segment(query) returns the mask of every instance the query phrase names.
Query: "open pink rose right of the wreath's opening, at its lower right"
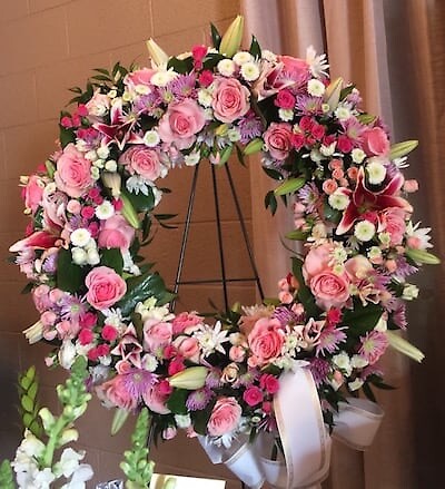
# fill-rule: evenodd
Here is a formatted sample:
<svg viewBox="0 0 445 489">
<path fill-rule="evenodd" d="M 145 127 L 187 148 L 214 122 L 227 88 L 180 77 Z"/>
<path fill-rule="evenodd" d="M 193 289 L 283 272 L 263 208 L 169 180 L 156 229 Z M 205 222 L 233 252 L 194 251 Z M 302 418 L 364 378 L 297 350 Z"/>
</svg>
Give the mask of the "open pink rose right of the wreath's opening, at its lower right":
<svg viewBox="0 0 445 489">
<path fill-rule="evenodd" d="M 343 307 L 349 299 L 349 281 L 346 274 L 337 275 L 326 270 L 313 276 L 309 286 L 318 307 L 325 311 Z"/>
</svg>

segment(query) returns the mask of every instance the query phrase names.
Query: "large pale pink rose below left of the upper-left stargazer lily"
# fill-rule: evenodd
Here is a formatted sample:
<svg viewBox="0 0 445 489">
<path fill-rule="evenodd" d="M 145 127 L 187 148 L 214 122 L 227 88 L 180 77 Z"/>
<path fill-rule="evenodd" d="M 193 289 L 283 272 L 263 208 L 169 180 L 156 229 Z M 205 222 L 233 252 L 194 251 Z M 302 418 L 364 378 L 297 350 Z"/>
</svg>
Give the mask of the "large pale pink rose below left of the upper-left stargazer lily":
<svg viewBox="0 0 445 489">
<path fill-rule="evenodd" d="M 83 196 L 93 185 L 91 162 L 70 143 L 57 160 L 56 185 L 70 197 Z"/>
</svg>

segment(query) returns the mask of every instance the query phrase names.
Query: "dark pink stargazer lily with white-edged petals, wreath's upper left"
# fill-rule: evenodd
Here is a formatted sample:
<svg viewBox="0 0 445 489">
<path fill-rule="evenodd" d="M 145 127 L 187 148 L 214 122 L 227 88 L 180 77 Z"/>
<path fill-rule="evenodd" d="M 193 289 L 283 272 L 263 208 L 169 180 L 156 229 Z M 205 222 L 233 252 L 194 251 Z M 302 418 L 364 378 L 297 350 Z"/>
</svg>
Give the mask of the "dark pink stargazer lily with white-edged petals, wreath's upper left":
<svg viewBox="0 0 445 489">
<path fill-rule="evenodd" d="M 95 129 L 105 135 L 102 145 L 108 146 L 116 143 L 120 150 L 123 146 L 129 144 L 140 144 L 142 139 L 136 134 L 131 133 L 135 126 L 136 118 L 128 117 L 122 111 L 122 100 L 119 99 L 110 110 L 110 124 L 96 123 L 92 125 Z"/>
</svg>

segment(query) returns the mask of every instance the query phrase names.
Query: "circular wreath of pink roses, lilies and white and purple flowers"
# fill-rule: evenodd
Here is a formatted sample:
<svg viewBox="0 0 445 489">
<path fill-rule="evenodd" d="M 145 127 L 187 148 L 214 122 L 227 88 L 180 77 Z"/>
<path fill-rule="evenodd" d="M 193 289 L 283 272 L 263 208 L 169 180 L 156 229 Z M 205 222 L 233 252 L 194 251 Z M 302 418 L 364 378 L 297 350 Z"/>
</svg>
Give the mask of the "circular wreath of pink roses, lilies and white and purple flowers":
<svg viewBox="0 0 445 489">
<path fill-rule="evenodd" d="M 27 338 L 56 345 L 48 364 L 88 359 L 101 400 L 147 407 L 162 439 L 186 428 L 228 444 L 275 430 L 271 400 L 296 361 L 332 423 L 345 391 L 373 398 L 385 387 L 377 361 L 388 345 L 422 359 L 393 333 L 418 293 L 408 276 L 437 263 L 405 198 L 417 189 L 402 173 L 416 141 L 390 145 L 358 90 L 329 80 L 324 55 L 277 56 L 255 38 L 239 50 L 239 32 L 236 22 L 222 39 L 212 29 L 214 48 L 178 57 L 149 41 L 151 68 L 98 69 L 86 91 L 72 89 L 59 149 L 22 179 L 31 221 L 10 251 L 40 313 Z M 278 180 L 273 212 L 291 196 L 288 237 L 305 253 L 276 302 L 209 324 L 169 311 L 171 294 L 139 252 L 161 178 L 202 159 L 224 165 L 234 150 L 259 151 Z"/>
</svg>

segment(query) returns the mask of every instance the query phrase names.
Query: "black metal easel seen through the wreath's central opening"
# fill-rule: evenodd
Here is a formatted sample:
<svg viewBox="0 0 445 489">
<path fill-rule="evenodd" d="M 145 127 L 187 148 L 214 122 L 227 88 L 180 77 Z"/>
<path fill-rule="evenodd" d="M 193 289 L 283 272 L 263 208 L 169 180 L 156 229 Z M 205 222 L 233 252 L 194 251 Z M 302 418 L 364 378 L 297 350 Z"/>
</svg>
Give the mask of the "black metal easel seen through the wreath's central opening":
<svg viewBox="0 0 445 489">
<path fill-rule="evenodd" d="M 216 277 L 216 278 L 201 278 L 201 280 L 194 280 L 194 281 L 187 281 L 187 280 L 184 281 L 184 280 L 181 280 L 182 268 L 184 268 L 184 261 L 185 261 L 187 242 L 188 242 L 188 236 L 189 236 L 189 231 L 190 231 L 191 214 L 192 214 L 194 204 L 195 204 L 196 188 L 197 188 L 197 183 L 198 183 L 198 174 L 199 174 L 200 165 L 201 164 L 196 165 L 194 177 L 192 177 L 192 180 L 191 180 L 191 189 L 190 189 L 190 196 L 189 196 L 189 199 L 188 199 L 186 224 L 185 224 L 185 227 L 184 227 L 182 242 L 181 242 L 180 253 L 179 253 L 178 270 L 177 270 L 177 273 L 176 273 L 176 280 L 175 280 L 175 285 L 174 285 L 174 293 L 175 293 L 175 295 L 178 293 L 180 285 L 221 284 L 222 285 L 222 293 L 224 293 L 224 306 L 225 306 L 226 311 L 228 311 L 228 309 L 229 309 L 228 291 L 227 291 L 227 284 L 228 283 L 233 283 L 233 282 L 255 282 L 256 285 L 257 285 L 258 293 L 259 293 L 261 300 L 264 299 L 264 292 L 263 292 L 261 282 L 259 280 L 258 270 L 257 270 L 257 266 L 255 264 L 254 253 L 253 253 L 253 250 L 251 250 L 251 246 L 250 246 L 250 242 L 249 242 L 249 237 L 248 237 L 248 234 L 247 234 L 246 223 L 245 223 L 245 219 L 244 219 L 244 216 L 243 216 L 241 207 L 239 205 L 239 199 L 238 199 L 238 196 L 237 196 L 237 193 L 236 193 L 234 179 L 233 179 L 233 176 L 231 176 L 228 163 L 225 165 L 225 170 L 226 170 L 227 179 L 228 179 L 228 183 L 229 183 L 231 196 L 234 198 L 235 208 L 236 208 L 236 212 L 237 212 L 239 225 L 241 227 L 241 233 L 243 233 L 244 242 L 245 242 L 246 250 L 247 250 L 247 253 L 248 253 L 248 256 L 249 256 L 250 267 L 253 270 L 253 275 L 254 276 L 251 276 L 251 277 L 230 277 L 230 278 L 227 277 L 227 273 L 226 273 L 226 257 L 225 257 L 225 254 L 224 254 L 224 244 L 222 244 L 222 232 L 221 232 L 221 221 L 220 221 L 220 203 L 219 203 L 219 195 L 218 195 L 218 185 L 217 185 L 217 178 L 216 178 L 216 169 L 215 169 L 215 166 L 211 165 L 211 182 L 212 182 L 212 188 L 214 188 L 215 215 L 216 215 L 216 225 L 217 225 L 217 234 L 218 234 L 218 252 L 219 252 L 219 263 L 220 263 L 220 277 Z M 171 303 L 170 303 L 170 311 L 171 312 L 175 311 L 175 306 L 176 306 L 176 300 L 174 299 L 171 301 Z"/>
</svg>

